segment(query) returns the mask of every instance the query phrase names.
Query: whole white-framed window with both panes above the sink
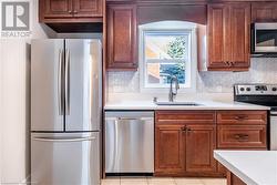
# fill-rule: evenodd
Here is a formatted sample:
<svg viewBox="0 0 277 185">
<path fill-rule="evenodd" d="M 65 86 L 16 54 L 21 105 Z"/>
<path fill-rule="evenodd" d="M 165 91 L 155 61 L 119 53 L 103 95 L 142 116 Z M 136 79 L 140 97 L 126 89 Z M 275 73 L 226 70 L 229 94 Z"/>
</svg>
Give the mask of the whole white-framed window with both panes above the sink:
<svg viewBox="0 0 277 185">
<path fill-rule="evenodd" d="M 178 79 L 183 91 L 194 89 L 195 27 L 192 23 L 187 27 L 184 22 L 165 21 L 142 25 L 140 33 L 141 90 L 161 89 L 167 92 L 172 75 Z"/>
</svg>

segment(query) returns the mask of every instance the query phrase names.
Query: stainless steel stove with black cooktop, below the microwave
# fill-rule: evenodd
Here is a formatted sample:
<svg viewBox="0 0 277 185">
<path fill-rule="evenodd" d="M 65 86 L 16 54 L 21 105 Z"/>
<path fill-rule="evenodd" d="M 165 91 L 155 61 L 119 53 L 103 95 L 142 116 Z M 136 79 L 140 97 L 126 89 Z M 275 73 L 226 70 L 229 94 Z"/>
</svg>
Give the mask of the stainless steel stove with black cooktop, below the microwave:
<svg viewBox="0 0 277 185">
<path fill-rule="evenodd" d="M 234 100 L 270 106 L 269 148 L 277 151 L 277 84 L 236 84 Z"/>
</svg>

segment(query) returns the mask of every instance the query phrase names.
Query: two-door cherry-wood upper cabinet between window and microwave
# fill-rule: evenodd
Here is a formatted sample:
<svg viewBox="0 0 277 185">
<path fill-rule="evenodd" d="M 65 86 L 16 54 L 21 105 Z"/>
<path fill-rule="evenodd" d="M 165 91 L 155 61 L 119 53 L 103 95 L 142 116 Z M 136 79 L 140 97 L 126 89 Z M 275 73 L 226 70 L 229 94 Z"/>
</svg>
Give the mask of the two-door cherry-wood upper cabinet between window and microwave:
<svg viewBox="0 0 277 185">
<path fill-rule="evenodd" d="M 249 68 L 250 3 L 208 4 L 208 70 Z"/>
</svg>

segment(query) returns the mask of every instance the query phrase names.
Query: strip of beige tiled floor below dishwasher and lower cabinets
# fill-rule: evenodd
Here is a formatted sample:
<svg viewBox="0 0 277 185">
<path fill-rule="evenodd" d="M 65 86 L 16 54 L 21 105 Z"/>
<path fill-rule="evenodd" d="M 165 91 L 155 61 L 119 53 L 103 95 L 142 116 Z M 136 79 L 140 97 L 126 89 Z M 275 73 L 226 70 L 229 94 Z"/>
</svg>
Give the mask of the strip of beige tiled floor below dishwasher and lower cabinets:
<svg viewBox="0 0 277 185">
<path fill-rule="evenodd" d="M 102 179 L 102 185 L 226 185 L 225 178 L 121 177 Z"/>
</svg>

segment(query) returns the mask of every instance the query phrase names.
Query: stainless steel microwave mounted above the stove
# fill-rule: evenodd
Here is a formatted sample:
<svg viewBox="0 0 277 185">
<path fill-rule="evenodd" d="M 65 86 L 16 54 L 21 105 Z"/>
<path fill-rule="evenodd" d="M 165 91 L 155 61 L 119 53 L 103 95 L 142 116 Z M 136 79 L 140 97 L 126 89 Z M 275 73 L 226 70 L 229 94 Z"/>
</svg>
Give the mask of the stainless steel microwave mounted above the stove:
<svg viewBox="0 0 277 185">
<path fill-rule="evenodd" d="M 252 54 L 277 54 L 277 22 L 252 24 Z"/>
</svg>

